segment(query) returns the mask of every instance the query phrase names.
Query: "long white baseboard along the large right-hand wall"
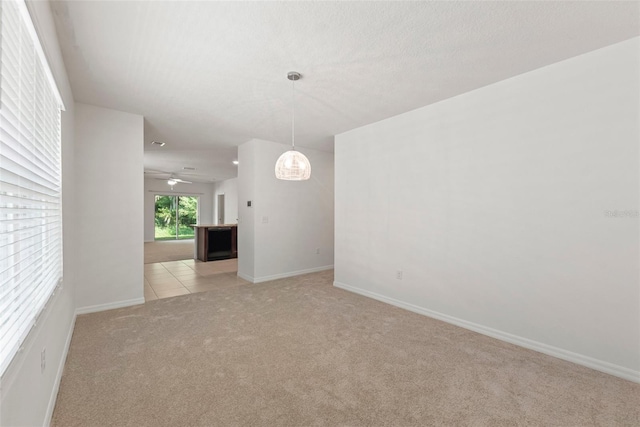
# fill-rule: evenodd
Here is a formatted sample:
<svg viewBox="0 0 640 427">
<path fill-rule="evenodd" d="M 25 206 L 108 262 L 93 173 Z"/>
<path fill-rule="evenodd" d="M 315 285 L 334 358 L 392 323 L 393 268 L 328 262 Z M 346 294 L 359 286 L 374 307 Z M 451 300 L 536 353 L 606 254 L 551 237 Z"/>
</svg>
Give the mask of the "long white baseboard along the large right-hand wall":
<svg viewBox="0 0 640 427">
<path fill-rule="evenodd" d="M 558 359 L 566 360 L 568 362 L 575 363 L 577 365 L 586 366 L 587 368 L 595 369 L 596 371 L 604 372 L 606 374 L 614 375 L 625 380 L 640 383 L 640 371 L 634 371 L 633 369 L 625 368 L 623 366 L 614 365 L 613 363 L 605 362 L 603 360 L 594 359 L 589 356 L 585 356 L 579 353 L 574 353 L 568 350 L 564 350 L 559 347 L 547 345 L 538 341 L 533 341 L 528 338 L 519 337 L 517 335 L 509 334 L 507 332 L 499 331 L 497 329 L 489 328 L 487 326 L 479 325 L 477 323 L 469 322 L 457 317 L 449 316 L 437 311 L 429 310 L 417 305 L 413 305 L 404 301 L 399 301 L 394 298 L 389 298 L 384 295 L 370 292 L 364 289 L 356 288 L 345 283 L 338 281 L 333 282 L 333 286 L 344 289 L 356 294 L 360 294 L 369 298 L 373 298 L 378 301 L 385 302 L 387 304 L 394 305 L 396 307 L 403 308 L 405 310 L 412 311 L 414 313 L 422 314 L 427 317 L 442 320 L 443 322 L 450 323 L 452 325 L 460 326 L 461 328 L 469 329 L 474 332 L 478 332 L 483 335 L 490 336 L 492 338 L 506 341 L 511 344 L 518 345 L 520 347 L 535 350 L 540 353 L 547 354 L 549 356 L 557 357 Z"/>
</svg>

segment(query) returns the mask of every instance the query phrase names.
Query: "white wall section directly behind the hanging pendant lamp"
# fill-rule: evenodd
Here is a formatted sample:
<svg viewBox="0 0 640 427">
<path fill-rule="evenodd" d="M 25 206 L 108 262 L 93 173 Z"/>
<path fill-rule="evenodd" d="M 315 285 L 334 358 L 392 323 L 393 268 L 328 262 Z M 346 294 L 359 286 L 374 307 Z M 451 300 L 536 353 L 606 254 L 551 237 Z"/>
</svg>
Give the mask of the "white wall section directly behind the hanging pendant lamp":
<svg viewBox="0 0 640 427">
<path fill-rule="evenodd" d="M 276 160 L 288 149 L 262 140 L 238 149 L 238 275 L 254 283 L 333 267 L 333 153 L 300 149 L 311 179 L 278 180 Z"/>
</svg>

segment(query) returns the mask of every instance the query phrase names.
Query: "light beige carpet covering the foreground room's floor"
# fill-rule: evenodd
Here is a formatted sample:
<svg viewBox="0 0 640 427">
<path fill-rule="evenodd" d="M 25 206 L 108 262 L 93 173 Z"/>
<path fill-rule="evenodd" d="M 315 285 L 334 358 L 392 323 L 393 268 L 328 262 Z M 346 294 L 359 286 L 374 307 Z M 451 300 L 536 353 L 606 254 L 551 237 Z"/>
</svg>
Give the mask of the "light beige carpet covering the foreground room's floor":
<svg viewBox="0 0 640 427">
<path fill-rule="evenodd" d="M 640 425 L 638 384 L 331 283 L 78 316 L 53 425 Z"/>
</svg>

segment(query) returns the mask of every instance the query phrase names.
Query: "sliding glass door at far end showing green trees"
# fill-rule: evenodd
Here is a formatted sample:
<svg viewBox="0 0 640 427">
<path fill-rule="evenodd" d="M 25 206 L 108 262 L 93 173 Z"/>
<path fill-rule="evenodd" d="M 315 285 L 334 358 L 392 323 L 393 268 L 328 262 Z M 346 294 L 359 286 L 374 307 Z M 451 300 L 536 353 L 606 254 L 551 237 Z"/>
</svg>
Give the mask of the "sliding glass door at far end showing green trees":
<svg viewBox="0 0 640 427">
<path fill-rule="evenodd" d="M 198 197 L 156 195 L 155 240 L 193 239 L 198 223 Z"/>
</svg>

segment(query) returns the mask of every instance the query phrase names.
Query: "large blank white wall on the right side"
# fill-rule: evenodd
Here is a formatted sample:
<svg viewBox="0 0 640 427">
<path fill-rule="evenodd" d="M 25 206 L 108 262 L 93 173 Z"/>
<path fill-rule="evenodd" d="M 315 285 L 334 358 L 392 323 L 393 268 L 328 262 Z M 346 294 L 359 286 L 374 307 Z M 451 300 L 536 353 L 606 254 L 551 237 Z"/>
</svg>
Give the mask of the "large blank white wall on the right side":
<svg viewBox="0 0 640 427">
<path fill-rule="evenodd" d="M 338 135 L 336 286 L 639 381 L 638 52 Z"/>
</svg>

